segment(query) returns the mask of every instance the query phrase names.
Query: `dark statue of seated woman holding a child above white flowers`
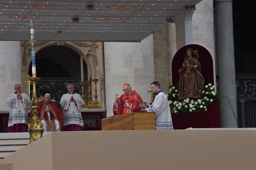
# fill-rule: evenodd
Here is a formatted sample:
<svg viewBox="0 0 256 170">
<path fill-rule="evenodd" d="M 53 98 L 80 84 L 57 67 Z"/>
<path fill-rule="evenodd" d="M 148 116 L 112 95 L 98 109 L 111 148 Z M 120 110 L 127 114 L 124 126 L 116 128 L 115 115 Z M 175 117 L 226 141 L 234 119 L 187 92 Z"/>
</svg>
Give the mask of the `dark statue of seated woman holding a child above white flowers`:
<svg viewBox="0 0 256 170">
<path fill-rule="evenodd" d="M 201 64 L 198 61 L 198 51 L 188 48 L 182 67 L 178 69 L 180 74 L 178 86 L 178 99 L 201 98 L 204 89 L 204 78 Z"/>
</svg>

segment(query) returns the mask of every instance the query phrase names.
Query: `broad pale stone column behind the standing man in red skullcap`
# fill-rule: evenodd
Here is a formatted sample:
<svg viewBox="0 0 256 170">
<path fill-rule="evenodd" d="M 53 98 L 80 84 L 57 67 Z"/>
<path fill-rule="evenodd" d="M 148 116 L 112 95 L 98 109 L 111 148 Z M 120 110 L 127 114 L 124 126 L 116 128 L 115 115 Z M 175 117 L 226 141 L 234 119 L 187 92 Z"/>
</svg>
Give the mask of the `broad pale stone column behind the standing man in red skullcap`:
<svg viewBox="0 0 256 170">
<path fill-rule="evenodd" d="M 116 93 L 129 83 L 145 102 L 151 101 L 150 83 L 154 81 L 153 35 L 141 43 L 104 42 L 107 117 L 112 116 Z"/>
</svg>

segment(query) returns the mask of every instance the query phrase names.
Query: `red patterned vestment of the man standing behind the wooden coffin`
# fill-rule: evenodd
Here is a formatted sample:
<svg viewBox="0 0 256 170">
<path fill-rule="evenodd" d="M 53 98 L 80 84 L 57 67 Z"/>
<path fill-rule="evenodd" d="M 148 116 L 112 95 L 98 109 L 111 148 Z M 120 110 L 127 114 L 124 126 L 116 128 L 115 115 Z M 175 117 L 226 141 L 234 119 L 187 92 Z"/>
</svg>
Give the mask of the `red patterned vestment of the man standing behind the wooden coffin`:
<svg viewBox="0 0 256 170">
<path fill-rule="evenodd" d="M 128 102 L 128 107 L 123 107 L 125 102 Z M 115 103 L 113 106 L 113 113 L 114 115 L 123 115 L 130 112 L 140 112 L 140 104 L 143 103 L 141 96 L 135 92 L 131 91 L 130 95 L 122 94 L 117 103 L 116 111 L 115 110 Z"/>
</svg>

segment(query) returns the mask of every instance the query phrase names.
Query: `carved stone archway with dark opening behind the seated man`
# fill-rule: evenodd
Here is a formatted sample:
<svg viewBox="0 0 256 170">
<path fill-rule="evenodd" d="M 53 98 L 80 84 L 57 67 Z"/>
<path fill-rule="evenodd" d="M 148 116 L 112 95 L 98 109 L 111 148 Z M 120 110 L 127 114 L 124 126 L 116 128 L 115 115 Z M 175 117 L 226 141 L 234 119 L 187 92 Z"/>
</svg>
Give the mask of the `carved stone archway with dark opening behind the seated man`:
<svg viewBox="0 0 256 170">
<path fill-rule="evenodd" d="M 78 93 L 79 81 L 81 81 L 80 57 L 83 58 L 84 80 L 99 79 L 97 84 L 98 101 L 105 107 L 104 101 L 104 64 L 101 42 L 56 42 L 37 41 L 36 48 L 36 68 L 37 76 L 52 79 L 76 79 Z M 22 58 L 22 78 L 27 79 L 31 74 L 31 52 L 29 42 L 21 42 Z M 86 55 L 89 54 L 88 57 Z M 48 64 L 50 62 L 51 64 Z M 53 69 L 57 68 L 57 69 Z M 59 69 L 58 69 L 59 68 Z M 40 70 L 39 70 L 40 69 Z M 51 73 L 54 74 L 51 75 Z M 23 82 L 25 92 L 28 92 L 28 85 Z M 95 93 L 95 86 L 92 85 L 92 100 Z M 23 90 L 24 90 L 23 89 Z M 85 88 L 85 91 L 87 89 Z M 37 94 L 38 95 L 38 94 Z M 85 94 L 86 95 L 86 94 Z"/>
</svg>

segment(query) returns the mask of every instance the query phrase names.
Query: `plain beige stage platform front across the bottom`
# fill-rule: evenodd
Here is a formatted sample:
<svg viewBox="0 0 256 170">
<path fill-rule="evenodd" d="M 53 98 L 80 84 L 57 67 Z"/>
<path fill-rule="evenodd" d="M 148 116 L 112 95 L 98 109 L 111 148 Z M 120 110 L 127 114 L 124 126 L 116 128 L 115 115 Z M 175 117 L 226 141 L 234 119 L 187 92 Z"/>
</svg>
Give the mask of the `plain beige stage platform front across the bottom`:
<svg viewBox="0 0 256 170">
<path fill-rule="evenodd" d="M 255 129 L 50 132 L 0 160 L 8 170 L 252 170 Z"/>
</svg>

